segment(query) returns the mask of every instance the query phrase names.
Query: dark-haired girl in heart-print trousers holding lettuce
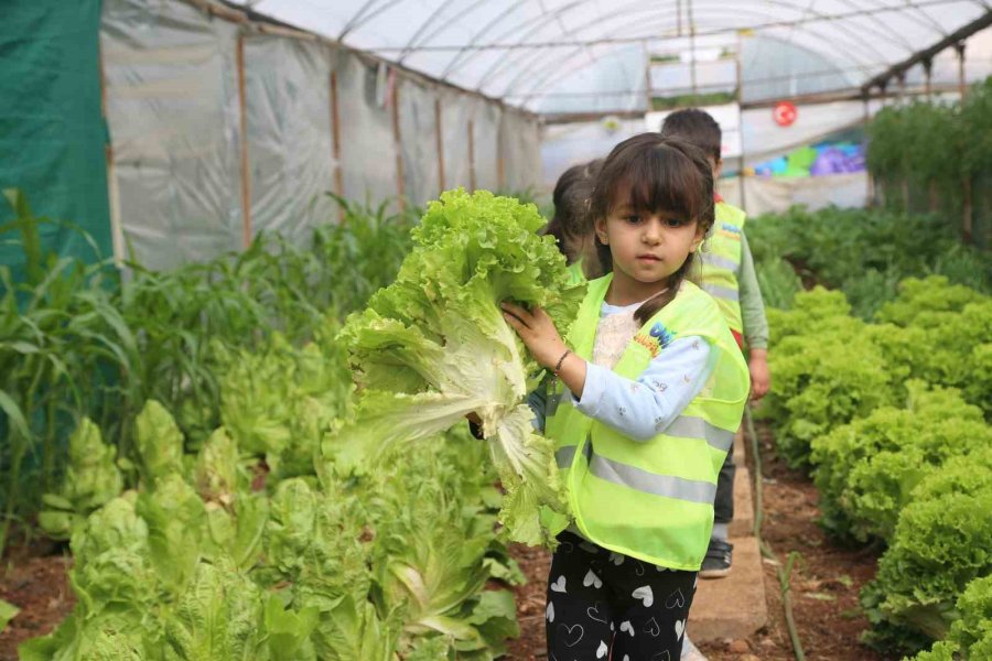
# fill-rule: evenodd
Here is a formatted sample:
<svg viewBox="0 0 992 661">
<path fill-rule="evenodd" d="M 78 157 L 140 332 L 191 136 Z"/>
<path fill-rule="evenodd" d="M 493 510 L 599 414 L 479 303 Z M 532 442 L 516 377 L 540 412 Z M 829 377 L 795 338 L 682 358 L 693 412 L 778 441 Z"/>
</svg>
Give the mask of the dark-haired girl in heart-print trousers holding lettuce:
<svg viewBox="0 0 992 661">
<path fill-rule="evenodd" d="M 548 581 L 548 658 L 677 661 L 748 389 L 716 304 L 687 280 L 713 224 L 712 173 L 687 143 L 636 136 L 606 159 L 591 209 L 610 272 L 568 343 L 539 307 L 503 305 L 559 379 L 544 433 L 574 524 Z"/>
</svg>

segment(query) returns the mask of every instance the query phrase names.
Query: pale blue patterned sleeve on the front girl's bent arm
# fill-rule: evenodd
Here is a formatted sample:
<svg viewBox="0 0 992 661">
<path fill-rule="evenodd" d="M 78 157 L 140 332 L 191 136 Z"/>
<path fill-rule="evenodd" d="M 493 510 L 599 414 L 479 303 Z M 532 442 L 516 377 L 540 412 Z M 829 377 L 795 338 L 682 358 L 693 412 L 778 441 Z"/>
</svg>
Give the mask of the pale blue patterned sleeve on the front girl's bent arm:
<svg viewBox="0 0 992 661">
<path fill-rule="evenodd" d="M 649 441 L 702 391 L 714 355 L 705 339 L 689 336 L 665 347 L 636 380 L 589 364 L 585 389 L 572 404 L 625 436 Z"/>
</svg>

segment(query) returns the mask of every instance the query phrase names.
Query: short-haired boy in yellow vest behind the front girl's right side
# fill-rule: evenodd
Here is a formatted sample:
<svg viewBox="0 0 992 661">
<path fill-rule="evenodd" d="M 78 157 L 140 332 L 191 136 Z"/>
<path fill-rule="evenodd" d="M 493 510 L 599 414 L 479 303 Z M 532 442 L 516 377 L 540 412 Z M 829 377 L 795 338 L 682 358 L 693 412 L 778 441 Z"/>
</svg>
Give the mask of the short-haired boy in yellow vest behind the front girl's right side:
<svg viewBox="0 0 992 661">
<path fill-rule="evenodd" d="M 705 153 L 713 180 L 720 177 L 722 160 L 720 124 L 708 112 L 697 108 L 677 110 L 661 126 L 666 138 L 684 140 Z M 741 350 L 748 351 L 752 398 L 759 400 L 768 392 L 768 322 L 765 304 L 754 271 L 754 259 L 744 236 L 744 212 L 714 195 L 716 223 L 707 249 L 700 253 L 702 289 L 720 305 Z M 733 544 L 727 541 L 727 527 L 734 517 L 734 455 L 729 453 L 716 487 L 713 539 L 707 551 L 700 576 L 722 578 L 730 573 Z"/>
</svg>

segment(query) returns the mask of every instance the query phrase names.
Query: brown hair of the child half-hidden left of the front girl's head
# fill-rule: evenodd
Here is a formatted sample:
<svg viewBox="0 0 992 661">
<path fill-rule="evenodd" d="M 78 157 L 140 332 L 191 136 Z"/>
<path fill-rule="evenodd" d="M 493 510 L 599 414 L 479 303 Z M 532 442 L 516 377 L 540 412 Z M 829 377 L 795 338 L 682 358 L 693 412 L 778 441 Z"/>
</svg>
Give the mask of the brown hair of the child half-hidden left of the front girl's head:
<svg viewBox="0 0 992 661">
<path fill-rule="evenodd" d="M 558 241 L 569 263 L 579 254 L 575 245 L 593 235 L 593 223 L 589 214 L 593 186 L 596 175 L 603 167 L 603 159 L 596 159 L 581 165 L 572 165 L 558 177 L 551 201 L 554 203 L 554 217 L 544 228 Z"/>
</svg>

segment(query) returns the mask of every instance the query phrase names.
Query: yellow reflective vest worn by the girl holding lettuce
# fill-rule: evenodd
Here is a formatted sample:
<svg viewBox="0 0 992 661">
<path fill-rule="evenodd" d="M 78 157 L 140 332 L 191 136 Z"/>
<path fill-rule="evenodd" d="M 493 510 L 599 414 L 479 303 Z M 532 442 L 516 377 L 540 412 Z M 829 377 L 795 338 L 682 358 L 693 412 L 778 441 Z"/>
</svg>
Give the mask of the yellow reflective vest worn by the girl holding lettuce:
<svg viewBox="0 0 992 661">
<path fill-rule="evenodd" d="M 589 283 L 568 335 L 585 360 L 612 280 L 610 273 Z M 548 398 L 546 433 L 556 442 L 569 506 L 586 539 L 651 564 L 697 571 L 713 528 L 716 476 L 744 412 L 747 365 L 713 299 L 686 281 L 634 336 L 614 371 L 636 379 L 673 338 L 690 336 L 710 344 L 715 367 L 700 394 L 657 436 L 638 442 L 594 421 L 571 404 L 560 381 Z"/>
</svg>

